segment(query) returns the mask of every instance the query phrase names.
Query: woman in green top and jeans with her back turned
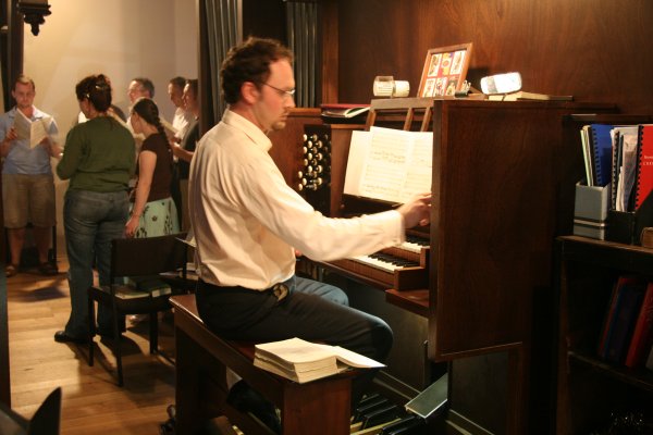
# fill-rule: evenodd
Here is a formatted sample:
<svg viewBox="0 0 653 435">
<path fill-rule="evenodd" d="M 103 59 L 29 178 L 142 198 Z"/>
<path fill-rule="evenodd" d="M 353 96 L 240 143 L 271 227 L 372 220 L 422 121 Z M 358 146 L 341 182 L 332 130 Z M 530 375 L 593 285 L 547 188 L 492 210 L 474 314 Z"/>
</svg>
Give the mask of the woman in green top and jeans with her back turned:
<svg viewBox="0 0 653 435">
<path fill-rule="evenodd" d="M 70 179 L 63 206 L 63 223 L 70 270 L 71 316 L 57 341 L 86 341 L 86 293 L 93 285 L 94 262 L 100 285 L 108 285 L 111 240 L 124 237 L 130 216 L 128 182 L 134 174 L 136 146 L 127 128 L 107 111 L 111 85 L 102 74 L 84 78 L 75 87 L 79 109 L 88 119 L 67 134 L 57 166 L 61 179 Z M 100 306 L 98 326 L 111 335 L 111 310 Z"/>
</svg>

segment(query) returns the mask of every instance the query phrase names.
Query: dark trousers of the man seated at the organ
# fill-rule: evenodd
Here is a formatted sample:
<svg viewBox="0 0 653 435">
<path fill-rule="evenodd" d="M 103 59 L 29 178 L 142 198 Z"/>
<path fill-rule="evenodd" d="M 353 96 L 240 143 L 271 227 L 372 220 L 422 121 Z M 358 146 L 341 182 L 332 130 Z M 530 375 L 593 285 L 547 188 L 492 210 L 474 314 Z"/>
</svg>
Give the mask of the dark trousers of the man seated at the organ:
<svg viewBox="0 0 653 435">
<path fill-rule="evenodd" d="M 297 276 L 286 285 L 287 296 L 278 300 L 272 290 L 217 287 L 199 281 L 199 316 L 209 330 L 226 339 L 266 343 L 299 337 L 385 361 L 393 341 L 387 323 L 348 307 L 346 295 L 337 287 Z M 352 408 L 377 372 L 362 370 L 352 382 Z"/>
</svg>

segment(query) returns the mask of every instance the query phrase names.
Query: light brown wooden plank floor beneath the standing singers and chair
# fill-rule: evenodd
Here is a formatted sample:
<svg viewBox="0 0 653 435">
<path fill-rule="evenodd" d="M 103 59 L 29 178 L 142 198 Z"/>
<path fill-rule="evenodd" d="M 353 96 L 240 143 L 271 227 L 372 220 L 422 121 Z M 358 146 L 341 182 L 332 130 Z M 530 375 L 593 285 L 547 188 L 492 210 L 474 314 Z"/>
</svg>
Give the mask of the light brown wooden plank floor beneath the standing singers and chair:
<svg viewBox="0 0 653 435">
<path fill-rule="evenodd" d="M 147 324 L 127 324 L 123 388 L 115 384 L 115 360 L 104 343 L 96 340 L 99 352 L 93 368 L 86 346 L 56 343 L 53 334 L 70 314 L 63 252 L 58 265 L 58 276 L 26 271 L 7 279 L 12 408 L 30 418 L 60 386 L 62 435 L 158 434 L 159 423 L 168 420 L 167 407 L 174 402 L 174 366 L 149 355 Z M 171 321 L 160 325 L 160 348 L 173 355 Z"/>
</svg>

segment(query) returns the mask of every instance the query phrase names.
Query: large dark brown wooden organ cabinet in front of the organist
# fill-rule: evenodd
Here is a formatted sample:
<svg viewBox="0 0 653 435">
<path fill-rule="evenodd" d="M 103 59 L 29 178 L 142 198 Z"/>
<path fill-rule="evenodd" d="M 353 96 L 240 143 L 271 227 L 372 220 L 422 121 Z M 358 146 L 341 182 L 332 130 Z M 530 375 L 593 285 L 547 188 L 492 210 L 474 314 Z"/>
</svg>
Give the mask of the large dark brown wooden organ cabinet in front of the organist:
<svg viewBox="0 0 653 435">
<path fill-rule="evenodd" d="M 583 170 L 563 119 L 614 111 L 609 104 L 406 98 L 373 100 L 367 126 L 317 127 L 330 132 L 331 166 L 330 179 L 311 195 L 323 191 L 319 209 L 332 216 L 387 208 L 343 195 L 352 129 L 433 130 L 431 225 L 415 234 L 427 240 L 428 253 L 417 259 L 426 262 L 424 278 L 387 279 L 348 260 L 317 266 L 368 287 L 348 291 L 354 307 L 383 319 L 403 313 L 386 319 L 395 346 L 385 372 L 398 378 L 385 383 L 390 389 L 407 384 L 419 393 L 445 365 L 447 433 L 552 432 L 553 244 L 571 233 L 574 186 Z M 291 186 L 303 171 L 303 136 L 319 124 L 317 110 L 297 110 L 286 130 L 272 136 L 273 158 Z M 381 303 L 367 303 L 368 297 Z M 422 377 L 416 381 L 415 372 Z"/>
</svg>

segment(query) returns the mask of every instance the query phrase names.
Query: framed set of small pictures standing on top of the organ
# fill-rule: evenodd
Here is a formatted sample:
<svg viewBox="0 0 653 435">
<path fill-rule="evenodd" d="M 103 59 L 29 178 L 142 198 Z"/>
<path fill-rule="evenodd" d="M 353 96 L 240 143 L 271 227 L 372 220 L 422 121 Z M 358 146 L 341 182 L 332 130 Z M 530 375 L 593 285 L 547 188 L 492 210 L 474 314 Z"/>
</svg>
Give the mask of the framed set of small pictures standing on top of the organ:
<svg viewBox="0 0 653 435">
<path fill-rule="evenodd" d="M 432 48 L 427 53 L 418 97 L 453 96 L 467 75 L 471 42 Z"/>
</svg>

